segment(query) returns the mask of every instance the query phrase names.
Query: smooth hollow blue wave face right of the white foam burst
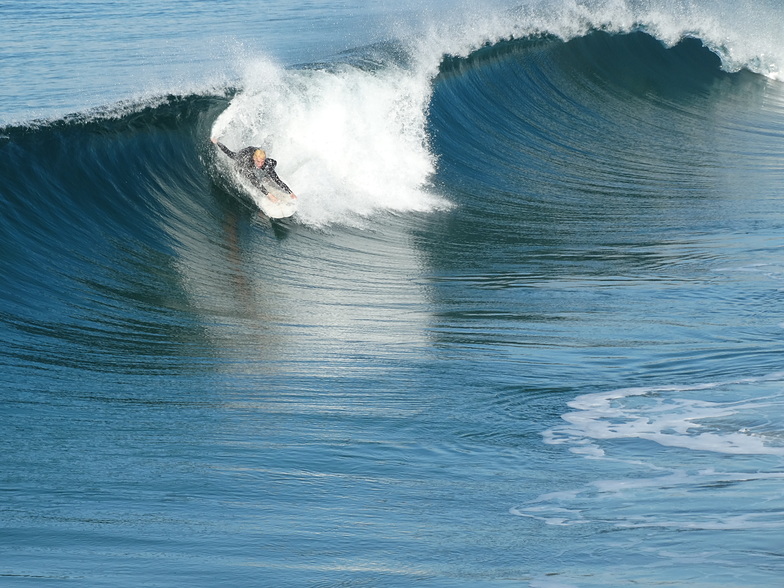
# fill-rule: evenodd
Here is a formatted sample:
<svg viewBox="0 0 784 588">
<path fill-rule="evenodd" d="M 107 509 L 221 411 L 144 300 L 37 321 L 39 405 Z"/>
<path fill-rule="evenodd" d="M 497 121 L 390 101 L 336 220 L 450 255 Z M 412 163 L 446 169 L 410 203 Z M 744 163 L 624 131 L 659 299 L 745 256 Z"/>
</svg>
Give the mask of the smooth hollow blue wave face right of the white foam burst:
<svg viewBox="0 0 784 588">
<path fill-rule="evenodd" d="M 714 166 L 775 165 L 776 136 L 755 137 L 758 159 L 745 162 L 734 152 L 742 133 L 717 136 L 770 88 L 724 72 L 697 39 L 671 48 L 642 32 L 503 41 L 441 67 L 431 104 L 439 178 L 493 191 L 493 206 L 681 188 L 689 197 L 709 189 Z M 763 124 L 777 126 L 775 117 Z M 720 140 L 738 145 L 717 149 Z"/>
</svg>

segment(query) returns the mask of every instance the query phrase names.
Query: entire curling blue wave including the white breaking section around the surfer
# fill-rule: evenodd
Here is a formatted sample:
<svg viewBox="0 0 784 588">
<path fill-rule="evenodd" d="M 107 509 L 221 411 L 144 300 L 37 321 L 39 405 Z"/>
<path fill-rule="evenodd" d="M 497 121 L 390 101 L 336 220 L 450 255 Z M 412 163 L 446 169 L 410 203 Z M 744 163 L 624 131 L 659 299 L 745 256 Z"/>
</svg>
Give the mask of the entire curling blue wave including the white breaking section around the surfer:
<svg viewBox="0 0 784 588">
<path fill-rule="evenodd" d="M 301 224 L 456 205 L 467 242 L 544 218 L 552 231 L 543 239 L 572 239 L 558 235 L 559 219 L 590 226 L 598 209 L 585 203 L 597 197 L 607 202 L 602 215 L 622 216 L 629 196 L 669 194 L 655 204 L 666 223 L 680 200 L 709 197 L 730 170 L 780 173 L 781 84 L 727 72 L 704 40 L 536 34 L 464 55 L 441 45 L 435 69 L 418 47 L 380 44 L 289 69 L 255 63 L 244 86 L 223 96 L 169 96 L 2 129 L 2 312 L 18 328 L 39 325 L 31 338 L 17 332 L 29 352 L 19 357 L 36 355 L 38 336 L 73 343 L 68 329 L 45 326 L 50 314 L 56 323 L 65 307 L 82 308 L 90 323 L 97 299 L 106 309 L 125 296 L 118 280 L 183 287 L 172 263 L 179 248 L 220 242 L 227 211 L 250 208 L 221 181 L 210 135 L 265 145 L 300 196 Z M 478 219 L 481 235 L 471 229 Z M 140 267 L 140 258 L 159 265 Z M 210 280 L 221 279 L 216 267 Z M 130 303 L 156 324 L 154 305 Z M 188 332 L 189 320 L 175 330 Z M 147 355 L 155 336 L 127 326 L 135 335 L 118 352 L 137 341 Z M 83 347 L 103 337 L 69 329 L 87 338 Z M 107 333 L 116 329 L 107 323 Z"/>
</svg>

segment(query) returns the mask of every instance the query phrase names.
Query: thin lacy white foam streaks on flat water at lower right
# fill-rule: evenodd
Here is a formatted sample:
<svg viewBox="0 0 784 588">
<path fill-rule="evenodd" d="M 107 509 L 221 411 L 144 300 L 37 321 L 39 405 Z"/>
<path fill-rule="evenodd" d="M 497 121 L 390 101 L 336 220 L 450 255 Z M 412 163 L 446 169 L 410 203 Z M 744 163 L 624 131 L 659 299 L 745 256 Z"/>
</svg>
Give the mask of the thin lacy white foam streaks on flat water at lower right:
<svg viewBox="0 0 784 588">
<path fill-rule="evenodd" d="M 780 530 L 783 383 L 784 374 L 773 373 L 580 396 L 563 415 L 568 424 L 544 437 L 592 459 L 578 479 L 593 481 L 510 513 L 554 526 Z M 757 496 L 765 498 L 749 498 Z"/>
</svg>

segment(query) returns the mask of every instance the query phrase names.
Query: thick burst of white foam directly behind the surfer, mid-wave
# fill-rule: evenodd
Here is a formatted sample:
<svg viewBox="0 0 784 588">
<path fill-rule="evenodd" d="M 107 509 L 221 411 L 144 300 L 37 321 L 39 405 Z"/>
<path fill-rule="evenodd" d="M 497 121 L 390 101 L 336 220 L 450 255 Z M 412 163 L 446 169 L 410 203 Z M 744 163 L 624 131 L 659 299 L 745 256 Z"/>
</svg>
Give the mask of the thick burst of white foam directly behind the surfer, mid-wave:
<svg viewBox="0 0 784 588">
<path fill-rule="evenodd" d="M 244 91 L 216 120 L 230 148 L 263 146 L 300 196 L 303 222 L 447 206 L 429 187 L 429 80 L 399 68 L 283 69 L 248 64 Z"/>
</svg>

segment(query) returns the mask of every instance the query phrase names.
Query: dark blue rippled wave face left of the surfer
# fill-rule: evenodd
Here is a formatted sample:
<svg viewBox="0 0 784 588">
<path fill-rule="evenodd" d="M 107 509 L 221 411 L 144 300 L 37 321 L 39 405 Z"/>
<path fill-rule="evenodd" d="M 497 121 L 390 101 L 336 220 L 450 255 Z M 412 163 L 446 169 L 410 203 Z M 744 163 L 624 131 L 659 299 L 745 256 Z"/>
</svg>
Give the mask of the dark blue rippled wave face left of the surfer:
<svg viewBox="0 0 784 588">
<path fill-rule="evenodd" d="M 202 145 L 225 100 L 158 102 L 4 129 L 4 362 L 154 371 L 187 347 L 159 305 L 178 244 L 223 214 Z"/>
</svg>

